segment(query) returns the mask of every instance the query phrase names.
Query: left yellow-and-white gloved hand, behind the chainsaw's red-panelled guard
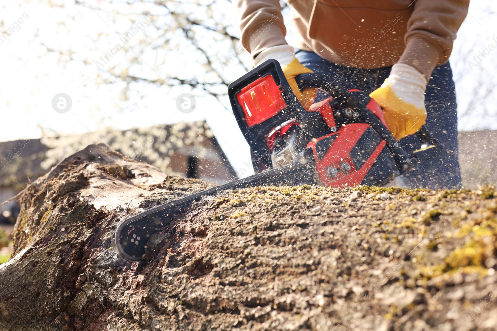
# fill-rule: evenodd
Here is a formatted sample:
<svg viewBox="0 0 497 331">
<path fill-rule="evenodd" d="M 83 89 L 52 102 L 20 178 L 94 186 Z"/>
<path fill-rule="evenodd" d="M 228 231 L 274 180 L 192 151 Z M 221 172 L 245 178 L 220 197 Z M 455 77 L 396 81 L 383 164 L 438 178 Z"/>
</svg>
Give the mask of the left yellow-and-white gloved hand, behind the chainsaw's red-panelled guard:
<svg viewBox="0 0 497 331">
<path fill-rule="evenodd" d="M 295 76 L 301 73 L 311 73 L 314 71 L 300 64 L 299 60 L 295 57 L 293 47 L 289 45 L 266 48 L 255 57 L 253 65 L 258 66 L 269 59 L 274 59 L 279 62 L 293 93 L 295 93 L 295 96 L 302 104 L 302 107 L 306 110 L 309 109 L 316 97 L 317 89 L 306 88 L 304 91 L 300 91 L 297 82 L 295 81 Z"/>
</svg>

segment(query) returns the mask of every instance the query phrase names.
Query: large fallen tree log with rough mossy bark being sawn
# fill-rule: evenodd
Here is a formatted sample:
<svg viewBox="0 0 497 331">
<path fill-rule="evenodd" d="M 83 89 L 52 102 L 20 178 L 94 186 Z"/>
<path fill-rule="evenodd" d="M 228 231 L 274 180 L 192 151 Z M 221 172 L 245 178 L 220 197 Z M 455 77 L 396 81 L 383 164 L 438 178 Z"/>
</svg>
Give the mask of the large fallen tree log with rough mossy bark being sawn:
<svg viewBox="0 0 497 331">
<path fill-rule="evenodd" d="M 14 254 L 0 265 L 0 330 L 497 324 L 492 188 L 222 192 L 152 236 L 144 264 L 117 256 L 119 222 L 210 185 L 105 144 L 66 158 L 20 198 Z"/>
</svg>

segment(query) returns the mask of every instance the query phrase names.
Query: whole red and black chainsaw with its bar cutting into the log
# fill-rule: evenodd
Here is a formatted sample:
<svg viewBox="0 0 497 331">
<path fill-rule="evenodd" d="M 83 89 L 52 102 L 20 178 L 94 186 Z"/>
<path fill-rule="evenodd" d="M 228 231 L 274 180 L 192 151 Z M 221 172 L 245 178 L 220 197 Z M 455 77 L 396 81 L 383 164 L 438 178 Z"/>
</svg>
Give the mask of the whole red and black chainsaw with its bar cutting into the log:
<svg viewBox="0 0 497 331">
<path fill-rule="evenodd" d="M 279 63 L 268 60 L 228 86 L 233 113 L 248 145 L 255 175 L 233 180 L 147 209 L 121 222 L 119 255 L 141 262 L 151 235 L 162 233 L 192 202 L 229 189 L 268 185 L 382 186 L 417 169 L 444 146 L 423 126 L 420 148 L 404 150 L 388 129 L 381 107 L 358 89 L 334 86 L 322 75 L 296 77 L 299 88 L 327 98 L 305 110 Z"/>
</svg>

